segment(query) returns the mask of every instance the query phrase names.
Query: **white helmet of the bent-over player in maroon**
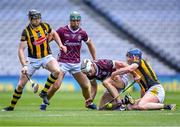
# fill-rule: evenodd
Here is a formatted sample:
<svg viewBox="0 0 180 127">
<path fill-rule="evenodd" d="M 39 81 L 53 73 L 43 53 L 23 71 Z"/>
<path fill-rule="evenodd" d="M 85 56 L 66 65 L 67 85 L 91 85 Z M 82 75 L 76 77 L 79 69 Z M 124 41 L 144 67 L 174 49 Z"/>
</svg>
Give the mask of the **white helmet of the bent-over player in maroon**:
<svg viewBox="0 0 180 127">
<path fill-rule="evenodd" d="M 84 59 L 81 63 L 81 71 L 84 73 L 89 73 L 89 71 L 92 69 L 92 61 L 90 59 Z"/>
</svg>

